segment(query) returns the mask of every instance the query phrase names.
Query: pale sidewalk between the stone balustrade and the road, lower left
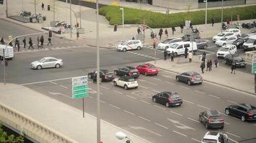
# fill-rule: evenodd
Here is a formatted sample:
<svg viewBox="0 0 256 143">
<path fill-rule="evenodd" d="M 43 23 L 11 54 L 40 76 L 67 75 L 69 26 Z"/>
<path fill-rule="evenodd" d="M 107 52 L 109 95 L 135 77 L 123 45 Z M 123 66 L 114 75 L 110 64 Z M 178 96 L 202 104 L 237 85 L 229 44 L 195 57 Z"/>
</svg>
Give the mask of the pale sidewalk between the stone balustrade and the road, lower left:
<svg viewBox="0 0 256 143">
<path fill-rule="evenodd" d="M 27 114 L 27 117 L 35 119 L 47 127 L 51 127 L 53 130 L 74 139 L 76 142 L 96 142 L 96 117 L 85 114 L 83 118 L 81 110 L 70 107 L 68 104 L 63 104 L 27 87 L 17 84 L 0 84 L 0 101 L 2 104 L 6 104 L 25 115 Z M 101 120 L 102 142 L 125 142 L 115 137 L 116 132 L 124 132 L 133 142 L 149 143 L 145 139 Z"/>
</svg>

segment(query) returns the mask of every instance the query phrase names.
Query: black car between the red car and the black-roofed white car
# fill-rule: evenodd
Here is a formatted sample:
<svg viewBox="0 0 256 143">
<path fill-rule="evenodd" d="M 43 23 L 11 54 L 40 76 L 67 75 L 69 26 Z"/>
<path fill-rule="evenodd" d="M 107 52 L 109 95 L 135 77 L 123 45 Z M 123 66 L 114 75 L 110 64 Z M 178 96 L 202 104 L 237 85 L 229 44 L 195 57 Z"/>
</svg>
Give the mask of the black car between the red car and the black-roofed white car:
<svg viewBox="0 0 256 143">
<path fill-rule="evenodd" d="M 139 71 L 137 69 L 135 69 L 133 66 L 123 66 L 118 69 L 115 69 L 114 74 L 119 77 L 126 75 L 129 77 L 137 78 L 140 76 Z"/>
</svg>

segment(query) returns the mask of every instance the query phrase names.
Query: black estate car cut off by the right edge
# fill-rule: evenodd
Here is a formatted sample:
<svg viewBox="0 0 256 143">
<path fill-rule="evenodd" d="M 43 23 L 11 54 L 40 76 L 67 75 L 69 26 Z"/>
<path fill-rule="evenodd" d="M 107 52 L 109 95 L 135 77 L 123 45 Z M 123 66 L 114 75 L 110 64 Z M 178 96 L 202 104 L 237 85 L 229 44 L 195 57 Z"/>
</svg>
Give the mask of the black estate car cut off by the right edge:
<svg viewBox="0 0 256 143">
<path fill-rule="evenodd" d="M 235 104 L 229 105 L 225 109 L 226 114 L 239 117 L 242 122 L 244 121 L 256 121 L 256 107 L 251 104 Z"/>
</svg>

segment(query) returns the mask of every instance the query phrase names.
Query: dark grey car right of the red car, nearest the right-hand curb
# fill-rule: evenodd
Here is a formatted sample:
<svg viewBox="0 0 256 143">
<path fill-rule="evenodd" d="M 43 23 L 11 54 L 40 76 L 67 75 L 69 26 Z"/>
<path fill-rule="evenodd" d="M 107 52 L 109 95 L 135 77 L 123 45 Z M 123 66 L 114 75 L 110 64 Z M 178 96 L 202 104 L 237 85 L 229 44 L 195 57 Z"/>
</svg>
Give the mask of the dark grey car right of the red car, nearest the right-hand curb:
<svg viewBox="0 0 256 143">
<path fill-rule="evenodd" d="M 196 71 L 186 71 L 176 76 L 176 81 L 185 82 L 188 85 L 192 84 L 202 84 L 203 77 L 198 74 Z"/>
</svg>

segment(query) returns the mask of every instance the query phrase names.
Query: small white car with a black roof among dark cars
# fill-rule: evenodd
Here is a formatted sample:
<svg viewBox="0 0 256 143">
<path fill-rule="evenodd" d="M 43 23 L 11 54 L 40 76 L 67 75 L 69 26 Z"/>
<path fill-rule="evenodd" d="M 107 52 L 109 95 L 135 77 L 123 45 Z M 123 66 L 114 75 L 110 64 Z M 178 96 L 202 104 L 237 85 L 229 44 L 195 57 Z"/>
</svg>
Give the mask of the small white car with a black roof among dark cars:
<svg viewBox="0 0 256 143">
<path fill-rule="evenodd" d="M 114 79 L 114 86 L 124 87 L 125 90 L 130 88 L 137 88 L 138 82 L 129 76 L 119 77 L 119 79 Z"/>
</svg>

